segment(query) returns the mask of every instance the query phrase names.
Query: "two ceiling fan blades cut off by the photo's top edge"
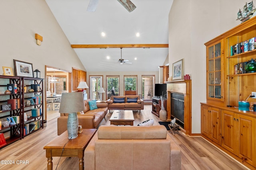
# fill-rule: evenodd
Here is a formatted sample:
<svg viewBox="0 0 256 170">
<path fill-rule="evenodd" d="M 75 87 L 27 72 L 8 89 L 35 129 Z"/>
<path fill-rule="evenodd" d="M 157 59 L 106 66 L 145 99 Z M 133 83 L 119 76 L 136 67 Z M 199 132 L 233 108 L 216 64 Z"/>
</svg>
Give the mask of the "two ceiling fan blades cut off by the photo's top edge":
<svg viewBox="0 0 256 170">
<path fill-rule="evenodd" d="M 117 1 L 120 2 L 120 4 L 122 4 L 122 6 L 124 6 L 124 8 L 126 8 L 126 10 L 128 10 L 129 12 L 132 12 L 136 8 L 136 6 L 130 0 L 117 0 Z M 89 5 L 87 7 L 87 11 L 95 12 L 98 2 L 99 0 L 90 0 Z"/>
</svg>

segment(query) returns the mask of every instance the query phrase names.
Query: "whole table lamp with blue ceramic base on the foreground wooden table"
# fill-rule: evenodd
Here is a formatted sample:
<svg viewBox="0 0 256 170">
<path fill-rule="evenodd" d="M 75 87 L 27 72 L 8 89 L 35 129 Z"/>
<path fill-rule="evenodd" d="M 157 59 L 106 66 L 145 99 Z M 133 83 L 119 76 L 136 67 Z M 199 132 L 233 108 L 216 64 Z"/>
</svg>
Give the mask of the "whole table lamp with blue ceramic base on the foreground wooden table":
<svg viewBox="0 0 256 170">
<path fill-rule="evenodd" d="M 76 112 L 83 111 L 84 96 L 82 92 L 63 93 L 60 102 L 60 113 L 68 113 L 68 139 L 74 139 L 78 135 L 78 117 Z"/>
</svg>

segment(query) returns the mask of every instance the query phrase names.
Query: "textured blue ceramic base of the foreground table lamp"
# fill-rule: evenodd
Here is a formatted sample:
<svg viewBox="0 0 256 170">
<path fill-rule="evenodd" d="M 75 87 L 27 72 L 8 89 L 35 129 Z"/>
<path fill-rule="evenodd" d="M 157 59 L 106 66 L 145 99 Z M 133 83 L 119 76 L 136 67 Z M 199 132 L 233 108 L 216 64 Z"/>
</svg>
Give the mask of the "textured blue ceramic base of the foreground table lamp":
<svg viewBox="0 0 256 170">
<path fill-rule="evenodd" d="M 68 139 L 74 139 L 78 135 L 78 118 L 76 113 L 69 113 L 68 114 Z"/>
</svg>

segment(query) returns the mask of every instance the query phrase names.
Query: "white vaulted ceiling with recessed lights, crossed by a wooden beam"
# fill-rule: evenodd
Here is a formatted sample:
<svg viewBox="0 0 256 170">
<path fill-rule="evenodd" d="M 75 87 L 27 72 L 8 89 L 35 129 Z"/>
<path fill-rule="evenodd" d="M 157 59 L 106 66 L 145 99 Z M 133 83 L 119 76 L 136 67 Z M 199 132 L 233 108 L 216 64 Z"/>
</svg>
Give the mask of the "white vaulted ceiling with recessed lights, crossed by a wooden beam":
<svg viewBox="0 0 256 170">
<path fill-rule="evenodd" d="M 46 0 L 46 3 L 71 45 L 98 45 L 74 48 L 87 71 L 158 71 L 168 56 L 168 47 L 158 46 L 168 45 L 168 14 L 173 0 L 131 1 L 136 6 L 132 12 L 118 0 L 99 0 L 95 12 L 87 12 L 90 0 Z M 102 32 L 106 34 L 104 37 Z M 153 47 L 124 47 L 142 44 Z M 107 48 L 108 45 L 117 46 Z M 120 47 L 123 47 L 122 59 L 132 64 L 118 62 Z"/>
</svg>

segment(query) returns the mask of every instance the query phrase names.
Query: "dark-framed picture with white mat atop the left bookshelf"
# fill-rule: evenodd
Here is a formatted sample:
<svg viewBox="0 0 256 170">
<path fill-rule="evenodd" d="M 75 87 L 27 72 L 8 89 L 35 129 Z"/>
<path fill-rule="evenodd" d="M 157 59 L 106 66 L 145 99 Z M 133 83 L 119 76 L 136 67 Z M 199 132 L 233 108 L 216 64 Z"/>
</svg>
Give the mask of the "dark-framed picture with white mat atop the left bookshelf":
<svg viewBox="0 0 256 170">
<path fill-rule="evenodd" d="M 16 76 L 23 76 L 23 77 L 34 77 L 33 76 L 33 67 L 31 63 L 27 63 L 24 61 L 14 61 L 14 69 Z"/>
</svg>

